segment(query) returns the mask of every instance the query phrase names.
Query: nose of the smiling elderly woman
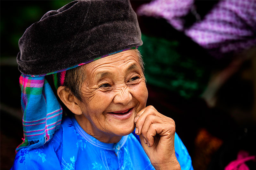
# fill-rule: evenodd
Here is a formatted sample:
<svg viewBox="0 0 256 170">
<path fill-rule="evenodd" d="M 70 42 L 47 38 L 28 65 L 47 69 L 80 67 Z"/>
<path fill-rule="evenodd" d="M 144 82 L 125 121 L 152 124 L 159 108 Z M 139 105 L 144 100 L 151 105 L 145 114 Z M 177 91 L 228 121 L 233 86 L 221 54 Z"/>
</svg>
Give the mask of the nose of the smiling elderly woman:
<svg viewBox="0 0 256 170">
<path fill-rule="evenodd" d="M 132 94 L 127 86 L 116 90 L 117 92 L 113 99 L 113 103 L 127 105 L 132 100 Z"/>
</svg>

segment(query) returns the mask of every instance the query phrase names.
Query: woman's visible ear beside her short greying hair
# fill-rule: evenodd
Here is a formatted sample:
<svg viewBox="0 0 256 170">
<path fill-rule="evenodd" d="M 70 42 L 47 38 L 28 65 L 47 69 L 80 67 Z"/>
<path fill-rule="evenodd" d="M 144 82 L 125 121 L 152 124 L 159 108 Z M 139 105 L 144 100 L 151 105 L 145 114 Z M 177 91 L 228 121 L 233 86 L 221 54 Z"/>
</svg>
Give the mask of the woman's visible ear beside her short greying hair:
<svg viewBox="0 0 256 170">
<path fill-rule="evenodd" d="M 67 106 L 67 108 L 76 115 L 83 114 L 79 100 L 71 93 L 70 90 L 66 90 L 64 86 L 60 86 L 57 89 L 57 94 L 60 100 Z"/>
</svg>

